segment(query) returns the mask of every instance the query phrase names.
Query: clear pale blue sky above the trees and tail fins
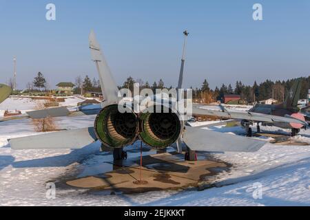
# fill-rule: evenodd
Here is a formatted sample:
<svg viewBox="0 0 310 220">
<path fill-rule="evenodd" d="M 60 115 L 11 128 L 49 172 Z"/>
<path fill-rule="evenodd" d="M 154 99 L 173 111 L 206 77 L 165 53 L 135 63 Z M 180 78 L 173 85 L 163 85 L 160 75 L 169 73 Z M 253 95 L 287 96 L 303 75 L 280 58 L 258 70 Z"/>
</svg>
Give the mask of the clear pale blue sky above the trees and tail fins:
<svg viewBox="0 0 310 220">
<path fill-rule="evenodd" d="M 56 21 L 45 5 L 56 5 Z M 262 4 L 263 21 L 252 6 Z M 52 87 L 97 77 L 88 34 L 94 29 L 118 84 L 127 76 L 176 86 L 183 30 L 189 31 L 185 87 L 212 88 L 309 76 L 310 1 L 0 0 L 0 82 L 24 88 L 37 72 Z"/>
</svg>

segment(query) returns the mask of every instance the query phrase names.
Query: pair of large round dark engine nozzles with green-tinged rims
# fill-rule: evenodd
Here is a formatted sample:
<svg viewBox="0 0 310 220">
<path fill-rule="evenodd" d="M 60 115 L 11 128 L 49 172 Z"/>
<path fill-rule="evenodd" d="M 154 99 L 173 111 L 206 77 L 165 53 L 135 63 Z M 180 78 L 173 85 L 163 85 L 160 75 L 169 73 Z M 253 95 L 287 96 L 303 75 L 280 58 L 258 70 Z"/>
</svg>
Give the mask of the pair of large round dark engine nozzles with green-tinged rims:
<svg viewBox="0 0 310 220">
<path fill-rule="evenodd" d="M 157 113 L 158 107 L 161 113 Z M 153 111 L 149 111 L 151 108 Z M 136 139 L 154 148 L 174 144 L 184 127 L 178 113 L 164 105 L 154 105 L 149 109 L 141 113 L 134 113 L 131 109 L 121 113 L 118 104 L 103 108 L 94 122 L 96 136 L 103 144 L 113 148 L 130 145 Z"/>
</svg>

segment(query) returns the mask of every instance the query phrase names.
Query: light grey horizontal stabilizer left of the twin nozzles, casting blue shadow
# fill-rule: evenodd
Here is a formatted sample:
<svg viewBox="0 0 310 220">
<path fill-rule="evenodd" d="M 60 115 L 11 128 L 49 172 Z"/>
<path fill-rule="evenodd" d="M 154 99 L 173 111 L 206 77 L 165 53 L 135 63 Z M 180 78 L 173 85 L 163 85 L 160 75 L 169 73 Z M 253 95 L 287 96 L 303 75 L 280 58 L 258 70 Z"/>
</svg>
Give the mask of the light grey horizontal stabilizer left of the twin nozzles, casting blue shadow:
<svg viewBox="0 0 310 220">
<path fill-rule="evenodd" d="M 14 150 L 83 148 L 97 140 L 94 127 L 18 137 L 8 140 Z"/>
</svg>

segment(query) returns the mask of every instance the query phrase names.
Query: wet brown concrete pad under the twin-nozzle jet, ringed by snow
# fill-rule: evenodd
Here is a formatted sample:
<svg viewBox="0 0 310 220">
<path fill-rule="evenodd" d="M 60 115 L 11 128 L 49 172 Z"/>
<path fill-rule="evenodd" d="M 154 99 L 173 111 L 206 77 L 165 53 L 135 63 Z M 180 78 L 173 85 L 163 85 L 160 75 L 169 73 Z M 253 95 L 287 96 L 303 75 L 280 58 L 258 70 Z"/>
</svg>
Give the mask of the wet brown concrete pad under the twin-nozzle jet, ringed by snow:
<svg viewBox="0 0 310 220">
<path fill-rule="evenodd" d="M 227 164 L 222 162 L 209 160 L 187 162 L 181 158 L 183 155 L 172 153 L 149 155 L 143 157 L 144 166 L 141 170 L 136 163 L 132 163 L 132 166 L 114 166 L 117 169 L 101 175 L 73 179 L 67 181 L 67 184 L 77 188 L 123 193 L 148 192 L 198 186 L 205 177 L 216 175 L 227 168 Z M 140 162 L 140 159 L 132 159 L 132 162 Z M 147 181 L 145 185 L 134 184 L 140 179 L 140 172 L 142 180 Z"/>
</svg>

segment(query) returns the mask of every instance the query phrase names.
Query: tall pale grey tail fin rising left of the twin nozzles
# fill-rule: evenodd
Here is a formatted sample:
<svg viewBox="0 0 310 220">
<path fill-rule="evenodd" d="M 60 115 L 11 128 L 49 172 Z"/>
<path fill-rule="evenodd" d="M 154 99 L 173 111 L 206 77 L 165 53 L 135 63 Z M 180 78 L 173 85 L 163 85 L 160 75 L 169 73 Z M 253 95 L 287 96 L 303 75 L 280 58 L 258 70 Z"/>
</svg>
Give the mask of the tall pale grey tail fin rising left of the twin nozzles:
<svg viewBox="0 0 310 220">
<path fill-rule="evenodd" d="M 96 67 L 99 74 L 99 81 L 101 85 L 101 91 L 103 93 L 102 107 L 108 104 L 116 104 L 118 102 L 118 88 L 107 66 L 105 57 L 101 51 L 99 43 L 96 41 L 94 31 L 90 32 L 90 53 L 92 54 L 92 60 L 96 63 Z"/>
</svg>

